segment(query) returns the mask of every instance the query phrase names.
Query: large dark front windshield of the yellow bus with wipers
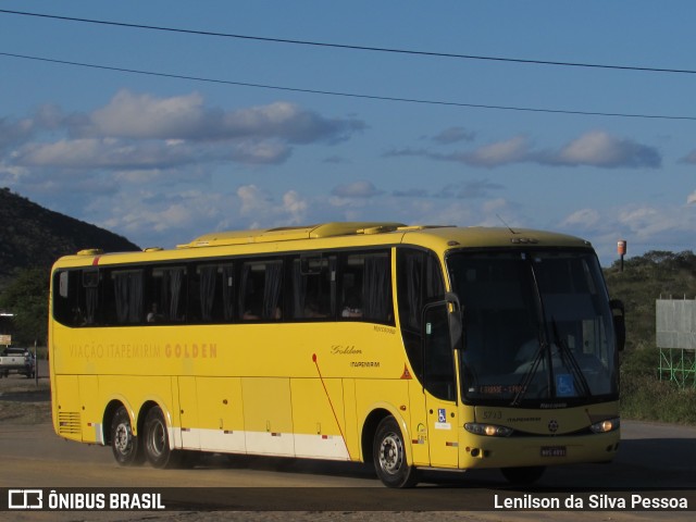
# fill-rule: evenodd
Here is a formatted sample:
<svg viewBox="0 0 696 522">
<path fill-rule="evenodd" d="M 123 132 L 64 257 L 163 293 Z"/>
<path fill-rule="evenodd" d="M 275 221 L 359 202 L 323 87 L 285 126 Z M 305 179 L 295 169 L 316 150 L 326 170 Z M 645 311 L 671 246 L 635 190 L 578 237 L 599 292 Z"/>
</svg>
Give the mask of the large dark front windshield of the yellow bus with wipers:
<svg viewBox="0 0 696 522">
<path fill-rule="evenodd" d="M 593 252 L 455 253 L 468 403 L 558 408 L 616 400 L 612 314 Z"/>
</svg>

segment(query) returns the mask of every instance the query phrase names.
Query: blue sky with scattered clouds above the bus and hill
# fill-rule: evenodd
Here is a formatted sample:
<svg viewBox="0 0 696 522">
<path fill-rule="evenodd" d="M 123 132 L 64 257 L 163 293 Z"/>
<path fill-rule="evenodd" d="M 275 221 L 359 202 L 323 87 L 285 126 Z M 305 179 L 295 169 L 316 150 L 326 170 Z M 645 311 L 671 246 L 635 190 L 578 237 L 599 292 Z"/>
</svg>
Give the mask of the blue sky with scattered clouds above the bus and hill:
<svg viewBox="0 0 696 522">
<path fill-rule="evenodd" d="M 436 53 L 696 71 L 671 1 L 0 1 L 0 10 Z M 0 13 L 0 186 L 173 247 L 326 221 L 500 225 L 617 254 L 696 243 L 696 74 L 465 60 Z M 208 78 L 199 82 L 9 57 Z M 284 88 L 451 104 L 254 88 Z"/>
</svg>

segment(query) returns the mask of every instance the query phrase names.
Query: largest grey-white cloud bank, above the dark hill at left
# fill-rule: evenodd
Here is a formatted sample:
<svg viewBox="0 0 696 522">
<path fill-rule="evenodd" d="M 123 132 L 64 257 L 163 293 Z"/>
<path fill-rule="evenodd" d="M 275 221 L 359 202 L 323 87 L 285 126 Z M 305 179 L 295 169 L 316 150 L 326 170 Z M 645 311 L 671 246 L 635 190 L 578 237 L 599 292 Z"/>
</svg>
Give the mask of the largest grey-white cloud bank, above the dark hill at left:
<svg viewBox="0 0 696 522">
<path fill-rule="evenodd" d="M 5 167 L 54 171 L 165 171 L 219 162 L 279 164 L 298 145 L 333 144 L 365 128 L 356 119 L 331 119 L 295 103 L 224 110 L 201 95 L 156 97 L 119 91 L 90 114 L 65 117 L 44 105 L 34 117 L 0 119 Z M 76 175 L 79 176 L 78 173 Z"/>
</svg>

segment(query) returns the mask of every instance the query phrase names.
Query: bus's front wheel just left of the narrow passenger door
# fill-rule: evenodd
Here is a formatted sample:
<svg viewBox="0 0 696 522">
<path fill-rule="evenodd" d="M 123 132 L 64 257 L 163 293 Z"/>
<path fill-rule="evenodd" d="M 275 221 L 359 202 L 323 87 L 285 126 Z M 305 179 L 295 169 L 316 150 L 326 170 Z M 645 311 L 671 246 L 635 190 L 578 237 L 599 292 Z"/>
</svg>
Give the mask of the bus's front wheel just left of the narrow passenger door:
<svg viewBox="0 0 696 522">
<path fill-rule="evenodd" d="M 387 487 L 412 487 L 418 483 L 417 470 L 409 465 L 406 444 L 394 417 L 385 417 L 377 425 L 373 447 L 374 469 Z"/>
</svg>

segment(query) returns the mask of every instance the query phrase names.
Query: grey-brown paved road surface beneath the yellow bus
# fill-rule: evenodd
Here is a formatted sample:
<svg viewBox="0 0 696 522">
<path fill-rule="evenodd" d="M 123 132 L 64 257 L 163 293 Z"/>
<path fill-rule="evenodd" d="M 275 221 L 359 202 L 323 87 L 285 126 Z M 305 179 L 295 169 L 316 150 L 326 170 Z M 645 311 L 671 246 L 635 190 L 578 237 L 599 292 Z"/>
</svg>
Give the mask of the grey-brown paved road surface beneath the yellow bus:
<svg viewBox="0 0 696 522">
<path fill-rule="evenodd" d="M 635 493 L 684 496 L 696 507 L 696 428 L 636 422 L 624 423 L 612 464 L 550 468 L 532 489 L 513 488 L 497 471 L 485 470 L 431 473 L 415 490 L 394 492 L 358 464 L 252 457 L 209 456 L 182 470 L 121 468 L 110 448 L 63 440 L 50 424 L 0 426 L 0 462 L 2 487 L 175 487 L 182 488 L 174 495 L 170 492 L 170 501 L 216 506 L 225 498 L 228 507 L 250 510 L 494 509 L 495 495 L 500 500 L 569 493 L 585 498 L 591 493 L 610 498 Z M 211 489 L 196 492 L 191 486 Z"/>
</svg>

